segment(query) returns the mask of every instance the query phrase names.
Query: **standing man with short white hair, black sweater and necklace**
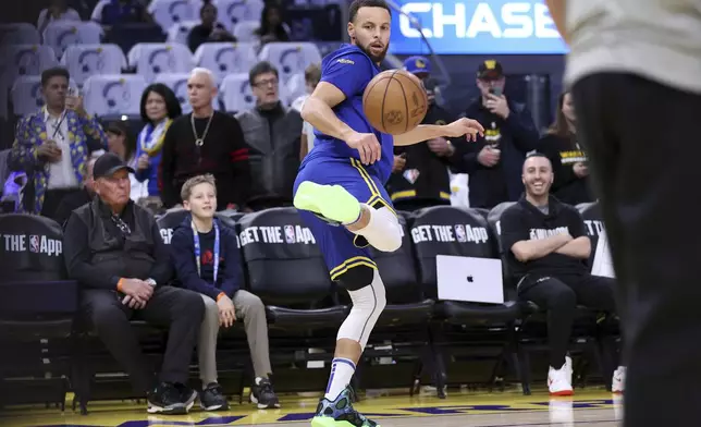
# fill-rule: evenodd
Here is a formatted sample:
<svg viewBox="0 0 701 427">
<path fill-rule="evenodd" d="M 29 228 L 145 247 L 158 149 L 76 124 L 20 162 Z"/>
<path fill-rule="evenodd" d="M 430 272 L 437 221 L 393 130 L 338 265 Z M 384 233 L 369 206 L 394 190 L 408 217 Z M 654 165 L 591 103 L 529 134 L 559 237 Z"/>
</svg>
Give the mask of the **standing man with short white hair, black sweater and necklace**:
<svg viewBox="0 0 701 427">
<path fill-rule="evenodd" d="M 248 146 L 238 121 L 214 111 L 217 82 L 211 71 L 194 69 L 187 80 L 193 111 L 173 121 L 163 139 L 160 182 L 165 208 L 180 204 L 185 181 L 211 173 L 219 209 L 243 208 L 250 187 Z"/>
</svg>

